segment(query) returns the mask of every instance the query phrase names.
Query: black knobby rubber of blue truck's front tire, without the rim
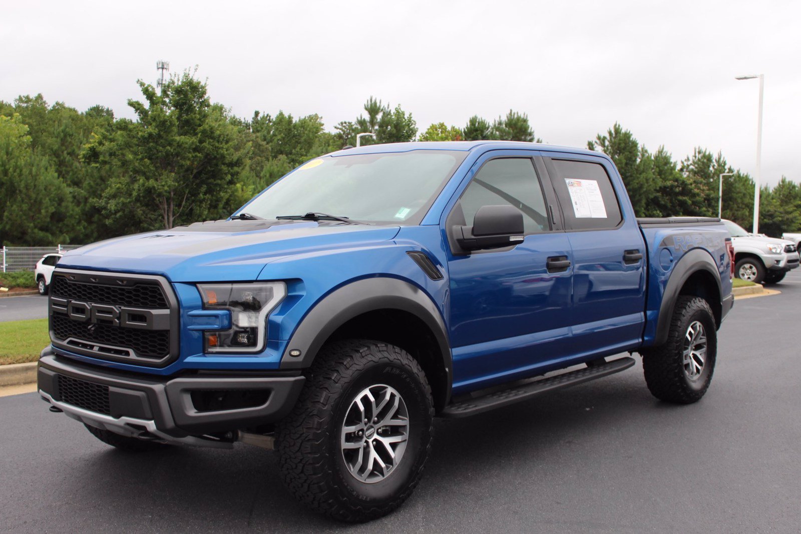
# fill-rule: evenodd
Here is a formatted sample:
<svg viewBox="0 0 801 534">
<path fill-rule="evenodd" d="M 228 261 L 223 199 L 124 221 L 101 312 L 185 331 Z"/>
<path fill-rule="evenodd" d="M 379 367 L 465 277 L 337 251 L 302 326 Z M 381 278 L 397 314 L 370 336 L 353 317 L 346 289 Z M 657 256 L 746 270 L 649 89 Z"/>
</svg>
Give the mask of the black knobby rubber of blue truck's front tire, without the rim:
<svg viewBox="0 0 801 534">
<path fill-rule="evenodd" d="M 375 384 L 400 393 L 409 412 L 409 439 L 396 469 L 368 484 L 348 472 L 340 437 L 352 402 Z M 385 516 L 420 481 L 431 452 L 433 416 L 428 380 L 409 353 L 364 339 L 329 343 L 308 371 L 295 408 L 276 429 L 281 477 L 292 495 L 337 520 Z"/>
</svg>

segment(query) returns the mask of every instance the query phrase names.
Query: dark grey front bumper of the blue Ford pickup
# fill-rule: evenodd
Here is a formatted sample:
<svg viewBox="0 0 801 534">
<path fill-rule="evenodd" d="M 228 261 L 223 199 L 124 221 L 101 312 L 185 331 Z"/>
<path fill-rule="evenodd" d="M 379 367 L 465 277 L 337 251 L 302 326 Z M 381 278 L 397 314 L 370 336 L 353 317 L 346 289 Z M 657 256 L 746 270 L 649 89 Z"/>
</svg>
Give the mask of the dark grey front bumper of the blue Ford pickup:
<svg viewBox="0 0 801 534">
<path fill-rule="evenodd" d="M 84 424 L 123 436 L 228 448 L 232 440 L 226 440 L 225 433 L 286 416 L 305 378 L 275 371 L 159 378 L 77 363 L 48 347 L 39 359 L 37 380 L 42 399 Z M 226 405 L 220 400 L 226 395 L 239 405 Z M 242 395 L 258 402 L 243 404 Z M 209 398 L 216 402 L 201 401 Z"/>
</svg>

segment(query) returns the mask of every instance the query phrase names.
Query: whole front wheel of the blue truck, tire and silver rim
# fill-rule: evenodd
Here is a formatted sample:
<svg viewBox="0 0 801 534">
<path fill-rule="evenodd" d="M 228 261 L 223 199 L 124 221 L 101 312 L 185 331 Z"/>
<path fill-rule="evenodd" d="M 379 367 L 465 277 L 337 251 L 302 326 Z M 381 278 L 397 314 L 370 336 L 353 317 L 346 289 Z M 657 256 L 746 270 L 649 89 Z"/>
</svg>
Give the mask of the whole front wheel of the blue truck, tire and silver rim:
<svg viewBox="0 0 801 534">
<path fill-rule="evenodd" d="M 293 495 L 338 520 L 384 516 L 420 480 L 433 415 L 428 380 L 407 352 L 365 340 L 329 344 L 278 425 L 281 476 Z"/>
</svg>

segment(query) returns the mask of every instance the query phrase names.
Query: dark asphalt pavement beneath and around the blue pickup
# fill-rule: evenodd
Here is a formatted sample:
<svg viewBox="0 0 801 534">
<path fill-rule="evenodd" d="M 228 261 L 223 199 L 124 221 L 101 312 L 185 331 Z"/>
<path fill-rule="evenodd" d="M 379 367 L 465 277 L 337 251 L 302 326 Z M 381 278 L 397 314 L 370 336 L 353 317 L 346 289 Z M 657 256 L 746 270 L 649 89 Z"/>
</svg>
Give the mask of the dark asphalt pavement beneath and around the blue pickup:
<svg viewBox="0 0 801 534">
<path fill-rule="evenodd" d="M 6 532 L 799 532 L 801 273 L 738 300 L 698 404 L 628 371 L 500 411 L 441 420 L 424 480 L 367 525 L 282 488 L 272 452 L 128 456 L 34 393 L 0 398 Z"/>
</svg>

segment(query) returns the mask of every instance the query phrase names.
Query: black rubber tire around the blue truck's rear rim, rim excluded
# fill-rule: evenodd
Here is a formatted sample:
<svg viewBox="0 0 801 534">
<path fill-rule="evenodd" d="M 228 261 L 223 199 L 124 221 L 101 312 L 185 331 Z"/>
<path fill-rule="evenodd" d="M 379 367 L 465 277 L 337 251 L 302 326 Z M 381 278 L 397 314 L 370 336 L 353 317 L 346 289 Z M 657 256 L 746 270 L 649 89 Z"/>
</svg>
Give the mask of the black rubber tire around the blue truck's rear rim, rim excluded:
<svg viewBox="0 0 801 534">
<path fill-rule="evenodd" d="M 706 361 L 698 379 L 691 380 L 682 355 L 687 328 L 694 321 L 702 323 L 706 331 Z M 642 351 L 642 370 L 651 395 L 674 404 L 697 402 L 709 388 L 717 350 L 717 331 L 709 303 L 693 296 L 678 297 L 666 342 Z"/>
</svg>

